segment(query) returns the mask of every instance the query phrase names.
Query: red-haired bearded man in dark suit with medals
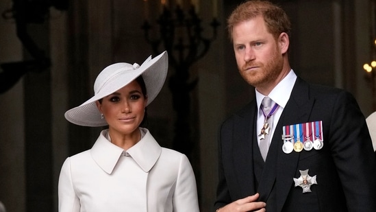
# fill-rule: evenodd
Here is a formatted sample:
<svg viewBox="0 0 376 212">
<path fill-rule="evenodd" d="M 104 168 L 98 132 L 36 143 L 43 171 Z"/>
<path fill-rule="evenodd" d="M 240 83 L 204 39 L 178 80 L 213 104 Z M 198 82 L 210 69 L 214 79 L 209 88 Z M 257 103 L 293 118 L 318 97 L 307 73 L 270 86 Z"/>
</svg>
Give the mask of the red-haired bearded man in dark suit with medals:
<svg viewBox="0 0 376 212">
<path fill-rule="evenodd" d="M 376 211 L 376 158 L 364 115 L 350 93 L 297 77 L 284 10 L 247 1 L 228 29 L 256 97 L 221 126 L 214 209 Z"/>
</svg>

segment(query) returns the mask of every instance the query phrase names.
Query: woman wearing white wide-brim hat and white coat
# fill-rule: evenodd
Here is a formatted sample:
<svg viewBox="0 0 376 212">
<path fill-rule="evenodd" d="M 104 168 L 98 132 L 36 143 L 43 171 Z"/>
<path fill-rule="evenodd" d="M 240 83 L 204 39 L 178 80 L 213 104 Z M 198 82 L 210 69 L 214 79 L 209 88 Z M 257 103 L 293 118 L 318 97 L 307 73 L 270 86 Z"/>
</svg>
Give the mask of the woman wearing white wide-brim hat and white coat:
<svg viewBox="0 0 376 212">
<path fill-rule="evenodd" d="M 138 64 L 116 63 L 95 80 L 94 97 L 68 110 L 80 126 L 107 126 L 91 150 L 68 157 L 59 178 L 59 211 L 199 211 L 188 158 L 161 148 L 140 123 L 168 69 L 166 51 Z"/>
</svg>

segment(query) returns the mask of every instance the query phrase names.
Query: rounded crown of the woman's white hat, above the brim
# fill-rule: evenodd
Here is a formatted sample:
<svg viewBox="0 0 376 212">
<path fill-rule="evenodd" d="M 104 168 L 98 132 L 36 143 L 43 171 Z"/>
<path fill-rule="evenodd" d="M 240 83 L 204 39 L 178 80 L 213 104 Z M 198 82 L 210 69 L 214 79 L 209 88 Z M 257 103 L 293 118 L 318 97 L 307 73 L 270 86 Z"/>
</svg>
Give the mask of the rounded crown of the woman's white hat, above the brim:
<svg viewBox="0 0 376 212">
<path fill-rule="evenodd" d="M 97 76 L 97 79 L 94 82 L 94 93 L 99 93 L 107 82 L 109 82 L 112 78 L 116 78 L 116 76 L 123 71 L 131 71 L 138 68 L 140 68 L 140 65 L 137 63 L 134 63 L 133 65 L 127 62 L 110 64 Z"/>
</svg>

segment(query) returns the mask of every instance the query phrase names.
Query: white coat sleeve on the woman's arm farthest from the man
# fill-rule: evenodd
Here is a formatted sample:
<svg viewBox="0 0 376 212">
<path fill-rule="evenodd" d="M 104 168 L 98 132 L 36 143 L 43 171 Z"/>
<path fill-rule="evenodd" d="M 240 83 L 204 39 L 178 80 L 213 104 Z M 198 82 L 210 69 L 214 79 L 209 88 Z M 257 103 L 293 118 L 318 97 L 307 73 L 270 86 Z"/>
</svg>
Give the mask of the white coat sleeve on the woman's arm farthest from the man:
<svg viewBox="0 0 376 212">
<path fill-rule="evenodd" d="M 71 160 L 66 158 L 58 183 L 59 212 L 79 212 L 79 199 L 75 194 L 71 176 Z"/>
</svg>

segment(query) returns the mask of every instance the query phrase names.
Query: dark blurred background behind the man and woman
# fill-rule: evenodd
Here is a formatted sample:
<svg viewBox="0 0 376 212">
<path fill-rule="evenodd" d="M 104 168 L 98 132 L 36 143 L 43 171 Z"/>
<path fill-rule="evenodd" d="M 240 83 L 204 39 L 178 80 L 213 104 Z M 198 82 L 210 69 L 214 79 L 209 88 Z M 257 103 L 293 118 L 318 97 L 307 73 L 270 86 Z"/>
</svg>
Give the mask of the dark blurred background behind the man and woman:
<svg viewBox="0 0 376 212">
<path fill-rule="evenodd" d="M 141 64 L 164 50 L 168 79 L 148 106 L 148 128 L 160 145 L 190 158 L 201 211 L 212 211 L 218 128 L 254 96 L 227 36 L 227 16 L 240 2 L 0 0 L 0 201 L 7 211 L 58 211 L 62 163 L 90 149 L 102 130 L 75 126 L 64 112 L 93 95 L 109 64 Z M 365 117 L 376 110 L 375 1 L 273 2 L 292 21 L 292 69 L 353 93 Z"/>
</svg>

